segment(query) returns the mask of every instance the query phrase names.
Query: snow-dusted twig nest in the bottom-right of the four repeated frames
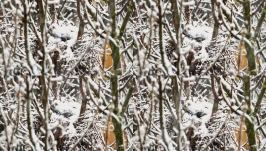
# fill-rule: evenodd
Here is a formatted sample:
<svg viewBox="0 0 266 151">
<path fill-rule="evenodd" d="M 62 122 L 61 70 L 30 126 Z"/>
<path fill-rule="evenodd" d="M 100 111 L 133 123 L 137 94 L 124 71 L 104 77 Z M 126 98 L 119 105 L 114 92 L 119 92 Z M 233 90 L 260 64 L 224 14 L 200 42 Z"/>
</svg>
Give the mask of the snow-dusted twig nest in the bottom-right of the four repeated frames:
<svg viewBox="0 0 266 151">
<path fill-rule="evenodd" d="M 218 110 L 213 122 L 195 121 L 193 126 L 188 127 L 186 136 L 190 141 L 191 150 L 231 150 L 234 145 L 234 132 L 228 127 L 231 127 L 234 121 L 227 118 L 225 111 Z M 228 121 L 225 122 L 226 120 Z M 200 128 L 203 126 L 206 129 Z"/>
</svg>

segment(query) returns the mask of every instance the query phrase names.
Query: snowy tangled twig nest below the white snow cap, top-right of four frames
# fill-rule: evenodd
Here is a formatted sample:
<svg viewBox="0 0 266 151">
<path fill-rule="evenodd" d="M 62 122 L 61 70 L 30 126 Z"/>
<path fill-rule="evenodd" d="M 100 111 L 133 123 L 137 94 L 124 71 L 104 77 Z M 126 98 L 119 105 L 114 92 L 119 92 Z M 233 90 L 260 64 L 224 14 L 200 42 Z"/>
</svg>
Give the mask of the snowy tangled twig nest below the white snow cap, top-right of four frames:
<svg viewBox="0 0 266 151">
<path fill-rule="evenodd" d="M 227 47 L 225 47 L 227 45 Z M 186 63 L 190 75 L 202 75 L 207 71 L 211 75 L 230 75 L 232 58 L 228 53 L 230 43 L 223 35 L 218 35 L 216 44 L 211 47 L 210 42 L 195 42 L 192 51 L 186 54 Z M 186 47 L 183 45 L 183 47 Z M 211 67 L 211 68 L 210 68 Z"/>
</svg>

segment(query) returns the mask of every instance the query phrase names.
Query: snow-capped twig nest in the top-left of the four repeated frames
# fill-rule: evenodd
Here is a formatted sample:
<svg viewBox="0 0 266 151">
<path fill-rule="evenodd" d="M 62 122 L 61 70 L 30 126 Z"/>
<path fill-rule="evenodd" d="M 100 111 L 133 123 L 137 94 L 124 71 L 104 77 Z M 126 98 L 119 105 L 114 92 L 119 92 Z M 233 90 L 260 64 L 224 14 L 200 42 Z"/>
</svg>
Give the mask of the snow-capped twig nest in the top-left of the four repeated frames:
<svg viewBox="0 0 266 151">
<path fill-rule="evenodd" d="M 55 25 L 53 25 L 55 26 Z M 46 60 L 47 67 L 54 71 L 55 75 L 70 72 L 70 75 L 99 74 L 101 72 L 100 54 L 104 51 L 101 41 L 91 31 L 83 34 L 79 42 L 77 38 L 77 27 L 65 23 L 51 26 L 47 32 L 46 51 L 49 56 Z M 53 29 L 55 28 L 55 29 Z M 37 32 L 39 33 L 39 32 Z M 29 36 L 30 50 L 34 63 L 41 67 L 43 55 L 41 42 L 35 36 Z M 20 42 L 21 49 L 24 49 L 24 42 Z M 20 57 L 22 59 L 22 57 Z M 24 67 L 17 66 L 18 73 L 23 72 Z M 40 69 L 38 68 L 39 72 Z"/>
</svg>

